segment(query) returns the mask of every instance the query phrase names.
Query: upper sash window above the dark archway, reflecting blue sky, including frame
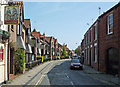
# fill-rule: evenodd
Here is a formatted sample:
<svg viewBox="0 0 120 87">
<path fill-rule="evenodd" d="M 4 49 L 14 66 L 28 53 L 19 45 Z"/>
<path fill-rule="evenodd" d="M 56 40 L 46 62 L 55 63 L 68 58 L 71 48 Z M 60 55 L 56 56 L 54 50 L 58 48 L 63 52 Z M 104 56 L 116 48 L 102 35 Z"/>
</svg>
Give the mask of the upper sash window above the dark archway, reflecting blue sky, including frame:
<svg viewBox="0 0 120 87">
<path fill-rule="evenodd" d="M 108 34 L 113 33 L 113 14 L 107 17 Z"/>
</svg>

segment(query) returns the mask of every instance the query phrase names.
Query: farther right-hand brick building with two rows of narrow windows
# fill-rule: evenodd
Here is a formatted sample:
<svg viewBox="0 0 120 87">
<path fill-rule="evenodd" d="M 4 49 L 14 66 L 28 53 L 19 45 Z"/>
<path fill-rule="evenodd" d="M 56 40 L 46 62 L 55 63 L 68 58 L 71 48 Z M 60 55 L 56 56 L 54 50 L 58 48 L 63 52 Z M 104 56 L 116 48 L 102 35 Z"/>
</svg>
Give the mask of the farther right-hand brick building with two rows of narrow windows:
<svg viewBox="0 0 120 87">
<path fill-rule="evenodd" d="M 98 69 L 98 21 L 84 35 L 84 63 Z"/>
</svg>

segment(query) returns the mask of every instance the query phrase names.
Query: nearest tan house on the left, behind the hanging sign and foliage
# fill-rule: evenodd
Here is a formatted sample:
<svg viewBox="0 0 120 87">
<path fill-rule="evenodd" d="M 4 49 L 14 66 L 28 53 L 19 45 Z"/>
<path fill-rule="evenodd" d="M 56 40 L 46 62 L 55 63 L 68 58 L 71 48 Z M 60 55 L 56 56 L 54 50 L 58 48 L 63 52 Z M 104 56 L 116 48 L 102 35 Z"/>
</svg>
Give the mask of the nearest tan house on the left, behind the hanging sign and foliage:
<svg viewBox="0 0 120 87">
<path fill-rule="evenodd" d="M 11 2 L 10 2 L 11 4 Z M 23 22 L 24 22 L 24 9 L 23 9 L 23 1 L 15 1 L 13 2 L 14 6 L 20 6 L 20 20 L 19 25 L 9 25 L 9 45 L 8 45 L 8 73 L 10 74 L 8 77 L 15 75 L 18 71 L 15 67 L 16 55 L 15 52 L 18 48 L 26 49 L 25 47 L 25 30 L 23 30 Z M 25 53 L 25 51 L 24 51 Z"/>
</svg>

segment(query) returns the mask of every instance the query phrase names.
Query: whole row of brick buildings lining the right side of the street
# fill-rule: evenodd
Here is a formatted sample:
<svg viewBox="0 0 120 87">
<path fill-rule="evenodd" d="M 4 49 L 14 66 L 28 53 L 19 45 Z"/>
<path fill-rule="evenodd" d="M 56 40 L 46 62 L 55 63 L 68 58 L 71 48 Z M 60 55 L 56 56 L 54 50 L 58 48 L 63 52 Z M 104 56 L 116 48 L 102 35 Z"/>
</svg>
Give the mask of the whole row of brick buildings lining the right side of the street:
<svg viewBox="0 0 120 87">
<path fill-rule="evenodd" d="M 98 17 L 81 43 L 85 64 L 120 76 L 120 3 Z"/>
</svg>

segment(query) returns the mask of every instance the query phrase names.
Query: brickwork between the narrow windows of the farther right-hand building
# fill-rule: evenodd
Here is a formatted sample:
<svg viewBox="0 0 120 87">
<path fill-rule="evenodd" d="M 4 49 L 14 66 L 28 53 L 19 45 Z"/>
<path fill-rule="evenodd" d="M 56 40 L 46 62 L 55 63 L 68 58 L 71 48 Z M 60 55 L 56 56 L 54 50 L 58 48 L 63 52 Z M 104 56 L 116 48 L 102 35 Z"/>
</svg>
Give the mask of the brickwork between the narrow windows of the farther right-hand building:
<svg viewBox="0 0 120 87">
<path fill-rule="evenodd" d="M 95 22 L 96 23 L 96 22 Z M 92 29 L 92 32 L 91 32 L 91 29 Z M 88 34 L 89 33 L 89 34 Z M 91 33 L 92 33 L 92 40 L 91 40 Z M 89 36 L 88 36 L 89 35 Z M 88 37 L 89 37 L 89 40 L 88 40 Z M 87 38 L 87 39 L 86 39 Z M 90 61 L 90 49 L 92 49 L 92 57 L 91 57 L 91 67 L 95 68 L 96 70 L 98 70 L 98 62 L 95 63 L 95 61 L 93 60 L 94 59 L 94 44 L 97 43 L 98 41 L 95 40 L 95 24 L 93 24 L 91 26 L 91 28 L 86 32 L 85 36 L 84 36 L 84 40 L 85 40 L 85 61 L 84 61 L 84 64 L 86 65 L 89 65 L 89 61 Z M 89 41 L 89 43 L 88 43 Z M 92 47 L 91 47 L 92 45 Z M 87 51 L 87 56 L 86 56 L 86 51 Z M 88 53 L 89 52 L 89 53 Z M 89 57 L 88 57 L 89 55 Z"/>
</svg>

